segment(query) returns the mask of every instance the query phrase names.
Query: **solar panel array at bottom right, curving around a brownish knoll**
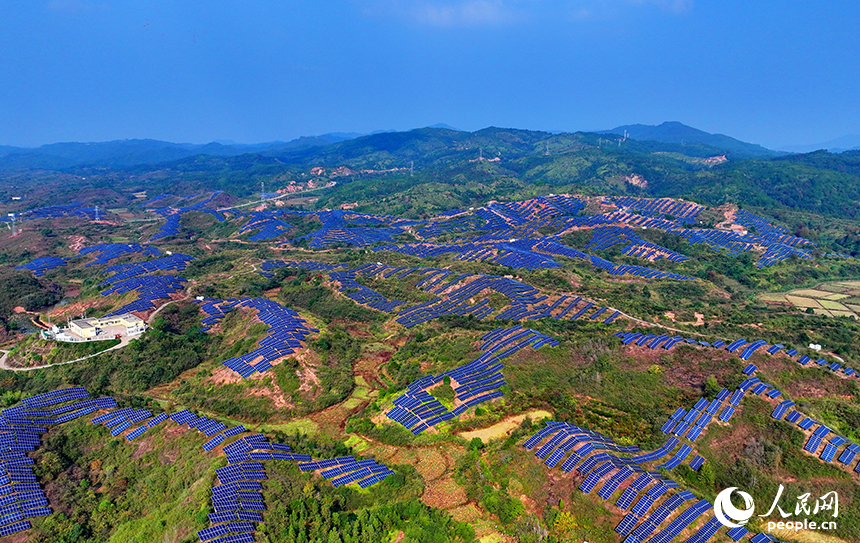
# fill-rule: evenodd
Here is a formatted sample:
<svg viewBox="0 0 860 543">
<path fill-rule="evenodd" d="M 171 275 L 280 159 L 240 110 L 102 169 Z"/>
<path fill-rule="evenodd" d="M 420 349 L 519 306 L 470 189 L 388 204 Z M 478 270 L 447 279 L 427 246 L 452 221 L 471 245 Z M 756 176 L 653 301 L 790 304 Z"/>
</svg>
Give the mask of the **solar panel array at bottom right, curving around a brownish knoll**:
<svg viewBox="0 0 860 543">
<path fill-rule="evenodd" d="M 733 393 L 727 389 L 722 389 L 717 397 L 711 401 L 701 398 L 690 411 L 683 408 L 676 409 L 664 425 L 663 431 L 668 433 L 673 428 L 683 425 L 680 435 L 686 433 L 689 436 L 688 432 L 692 432 L 697 427 L 701 430 L 720 410 L 736 408 L 747 392 L 765 395 L 771 399 L 779 396 L 779 394 L 774 394 L 774 392 L 778 393 L 779 391 L 771 385 L 763 383 L 756 377 L 749 377 Z M 780 401 L 775 410 L 775 415 L 777 415 L 775 418 L 781 418 L 785 411 L 793 406 L 794 402 L 790 400 Z M 798 412 L 792 411 L 792 413 Z M 838 457 L 837 461 L 848 465 L 860 453 L 860 445 L 852 443 L 844 436 L 834 435 L 830 428 L 813 419 L 796 415 L 794 417 L 787 416 L 786 420 L 799 420 L 798 425 L 803 429 L 810 429 L 818 425 L 804 449 L 812 454 L 819 454 L 821 460 L 825 462 L 832 462 Z M 832 437 L 828 440 L 828 436 Z M 610 438 L 597 432 L 568 423 L 548 422 L 543 429 L 528 438 L 523 445 L 529 450 L 534 450 L 535 455 L 550 468 L 560 466 L 561 470 L 565 472 L 570 472 L 575 468 L 585 476 L 579 486 L 580 490 L 585 493 L 596 488 L 601 480 L 606 480 L 603 488 L 598 491 L 598 495 L 603 499 L 610 499 L 614 493 L 621 489 L 616 505 L 622 510 L 633 507 L 632 512 L 628 513 L 616 527 L 617 533 L 621 536 L 627 536 L 624 541 L 644 542 L 650 538 L 649 542 L 668 543 L 713 507 L 706 500 L 700 500 L 678 515 L 662 530 L 659 530 L 673 509 L 680 506 L 684 501 L 693 499 L 691 493 L 683 491 L 673 494 L 664 501 L 663 505 L 658 506 L 650 516 L 646 517 L 651 507 L 656 504 L 657 499 L 668 489 L 677 488 L 678 485 L 674 481 L 663 478 L 659 472 L 646 471 L 644 464 L 667 456 L 679 444 L 681 446 L 674 455 L 668 461 L 657 466 L 658 468 L 672 469 L 692 452 L 692 447 L 682 444 L 677 437 L 670 437 L 669 441 L 654 451 L 641 453 L 636 447 L 618 447 Z M 823 448 L 822 444 L 824 445 Z M 840 447 L 843 447 L 841 454 Z M 627 453 L 629 456 L 622 456 L 622 453 Z M 704 458 L 696 455 L 690 460 L 690 468 L 698 470 L 704 462 Z M 860 464 L 855 467 L 854 471 L 860 473 Z M 612 475 L 613 473 L 614 475 Z M 631 479 L 633 482 L 626 488 L 622 488 L 622 483 Z M 655 483 L 652 489 L 642 495 L 637 502 L 637 495 L 640 495 L 651 483 Z M 640 522 L 641 524 L 639 524 Z M 687 541 L 704 543 L 712 538 L 720 527 L 721 524 L 716 519 L 711 518 Z M 733 529 L 726 535 L 737 541 L 746 533 L 745 529 Z M 776 541 L 769 534 L 759 534 L 754 539 Z"/>
</svg>

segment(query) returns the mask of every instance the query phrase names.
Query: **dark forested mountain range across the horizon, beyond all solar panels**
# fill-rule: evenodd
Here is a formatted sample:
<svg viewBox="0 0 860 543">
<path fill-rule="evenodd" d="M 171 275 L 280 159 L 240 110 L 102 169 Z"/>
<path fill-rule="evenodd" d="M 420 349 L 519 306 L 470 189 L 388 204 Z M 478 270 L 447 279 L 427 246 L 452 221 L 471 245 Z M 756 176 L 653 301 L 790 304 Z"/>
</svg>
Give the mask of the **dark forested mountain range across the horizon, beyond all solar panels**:
<svg viewBox="0 0 860 543">
<path fill-rule="evenodd" d="M 430 211 L 480 204 L 506 190 L 548 190 L 785 206 L 860 218 L 860 151 L 778 153 L 680 123 L 632 125 L 600 134 L 427 127 L 351 136 L 259 145 L 127 140 L 0 148 L 0 181 L 10 181 L 0 182 L 0 202 L 11 198 L 13 189 L 15 194 L 22 187 L 38 190 L 52 179 L 78 187 L 74 193 L 95 190 L 106 199 L 111 191 L 120 198 L 116 191 L 140 190 L 223 190 L 247 198 L 260 181 L 267 187 L 270 180 L 283 184 L 319 168 L 314 175 L 337 180 L 334 191 L 320 196 L 320 206 L 354 201 L 358 190 L 365 190 L 365 196 L 378 190 L 373 197 L 382 199 L 394 187 L 434 195 L 427 200 L 434 202 Z M 34 175 L 20 175 L 22 171 Z M 77 177 L 70 180 L 68 173 Z M 462 198 L 449 200 L 454 186 L 460 187 L 455 192 L 462 191 Z M 402 211 L 412 204 L 391 205 L 392 211 Z"/>
</svg>

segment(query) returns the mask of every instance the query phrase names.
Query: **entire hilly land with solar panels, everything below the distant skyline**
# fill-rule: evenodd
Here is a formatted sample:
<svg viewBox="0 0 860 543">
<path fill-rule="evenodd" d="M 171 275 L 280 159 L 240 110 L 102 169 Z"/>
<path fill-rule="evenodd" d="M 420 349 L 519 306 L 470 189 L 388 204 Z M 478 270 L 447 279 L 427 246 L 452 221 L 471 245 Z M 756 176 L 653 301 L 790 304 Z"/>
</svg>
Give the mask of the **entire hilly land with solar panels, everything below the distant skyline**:
<svg viewBox="0 0 860 543">
<path fill-rule="evenodd" d="M 0 541 L 858 541 L 856 162 L 422 129 L 4 171 Z M 838 529 L 714 514 L 780 485 Z"/>
</svg>

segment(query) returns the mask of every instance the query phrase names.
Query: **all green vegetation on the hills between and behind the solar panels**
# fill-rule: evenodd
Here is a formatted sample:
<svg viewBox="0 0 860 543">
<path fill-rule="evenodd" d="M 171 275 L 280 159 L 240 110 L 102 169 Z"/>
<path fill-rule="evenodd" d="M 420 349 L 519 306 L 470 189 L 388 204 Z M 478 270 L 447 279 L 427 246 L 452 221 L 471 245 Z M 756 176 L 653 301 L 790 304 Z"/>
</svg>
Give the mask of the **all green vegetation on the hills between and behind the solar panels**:
<svg viewBox="0 0 860 543">
<path fill-rule="evenodd" d="M 321 224 L 315 217 L 298 215 L 284 220 L 279 239 L 254 242 L 250 234 L 237 235 L 247 216 L 227 213 L 227 220 L 218 222 L 208 213 L 190 213 L 183 216 L 178 236 L 154 243 L 163 251 L 195 258 L 181 273 L 189 279 L 187 292 L 221 299 L 277 300 L 320 332 L 271 370 L 240 379 L 221 362 L 255 349 L 268 327 L 253 311 L 240 308 L 202 333 L 199 304 L 181 300 L 164 308 L 152 329 L 123 349 L 67 366 L 0 373 L 0 405 L 9 407 L 26 396 L 61 386 L 83 385 L 95 396 L 117 398 L 123 407 L 153 412 L 190 408 L 231 425 L 245 424 L 314 458 L 360 455 L 394 470 L 383 483 L 362 490 L 334 488 L 292 462 L 266 463 L 267 510 L 256 534 L 261 542 L 385 543 L 402 535 L 400 540 L 405 542 L 486 538 L 483 541 L 614 543 L 618 537 L 613 528 L 620 519 L 614 500 L 584 495 L 576 489 L 578 479 L 550 472 L 521 447 L 542 425 L 528 418 L 516 425 L 526 413 L 542 410 L 550 412 L 552 420 L 650 450 L 665 442 L 660 426 L 676 408 L 689 408 L 702 397 L 713 398 L 723 387 L 733 389 L 746 377 L 740 371 L 744 364 L 735 355 L 686 344 L 670 351 L 623 346 L 613 335 L 617 331 L 665 330 L 625 319 L 612 325 L 585 319 L 524 321 L 524 326 L 552 336 L 559 345 L 527 348 L 506 358 L 502 399 L 481 404 L 458 420 L 416 437 L 385 417 L 392 401 L 417 378 L 438 375 L 474 359 L 481 352 L 482 335 L 515 323 L 448 316 L 406 329 L 394 322 L 394 315 L 344 296 L 324 272 L 285 267 L 271 277 L 258 273 L 262 261 L 281 259 L 350 266 L 382 262 L 446 268 L 455 274 L 505 275 L 541 290 L 549 296 L 545 303 L 561 295 L 582 296 L 671 328 L 667 333 L 709 342 L 761 338 L 802 352 L 807 352 L 802 347 L 809 343 L 821 343 L 824 351 L 843 357 L 845 365 L 860 366 L 860 324 L 855 320 L 839 314 L 809 314 L 804 309 L 812 306 L 803 304 L 773 303 L 817 288 L 818 294 L 807 295 L 818 300 L 819 313 L 841 311 L 828 304 L 854 311 L 850 306 L 857 301 L 860 307 L 860 298 L 853 299 L 855 293 L 846 283 L 860 280 L 860 265 L 853 259 L 823 256 L 828 252 L 860 255 L 860 154 L 749 158 L 738 148 L 730 150 L 727 162 L 716 164 L 704 159 L 722 155 L 724 149 L 633 140 L 618 147 L 606 146 L 601 139 L 596 134 L 496 128 L 474 134 L 424 129 L 268 154 L 199 156 L 160 164 L 157 171 L 149 166 L 87 170 L 87 175 L 79 176 L 86 180 L 68 183 L 96 194 L 99 205 L 121 209 L 141 222 L 108 228 L 77 219 L 34 221 L 17 240 L 0 239 L 4 266 L 0 325 L 3 337 L 10 340 L 10 361 L 47 364 L 113 344 L 54 345 L 39 340 L 35 334 L 20 333 L 33 330 L 28 325 L 33 315 L 13 310 L 17 306 L 38 310 L 68 296 L 54 313 L 65 318 L 71 312 L 104 314 L 133 299 L 131 294 L 100 296 L 103 267 L 85 266 L 90 261 L 86 257 L 39 279 L 12 267 L 37 256 L 73 256 L 76 250 L 70 245 L 78 239 L 75 236 L 85 246 L 148 239 L 161 219 L 147 221 L 152 215 L 127 195 L 144 188 L 150 197 L 158 192 L 190 194 L 220 188 L 226 193 L 218 206 L 226 207 L 241 203 L 237 198 L 251 195 L 261 180 L 277 188 L 291 182 L 306 186 L 310 179 L 318 186 L 335 180 L 336 186 L 298 195 L 293 203 L 302 210 L 336 210 L 343 204 L 352 209 L 355 204 L 359 212 L 405 218 L 431 217 L 494 199 L 563 192 L 683 196 L 711 205 L 744 202 L 744 209 L 817 243 L 812 249 L 816 258 L 790 259 L 757 269 L 755 253 L 735 258 L 655 229 L 637 230 L 646 241 L 690 257 L 684 262 L 661 259 L 648 266 L 694 278 L 644 280 L 610 276 L 581 259 L 563 257 L 557 259 L 563 264 L 560 268 L 527 271 L 455 260 L 452 255 L 421 259 L 377 252 L 373 247 L 311 250 L 306 242 L 296 240 Z M 485 160 L 476 160 L 479 149 Z M 415 161 L 414 175 L 405 170 L 369 171 L 403 168 L 410 161 Z M 324 171 L 311 174 L 316 166 Z M 628 181 L 632 174 L 647 185 L 632 185 Z M 50 175 L 34 172 L 18 181 L 33 189 L 36 202 L 49 198 L 41 187 L 50 186 Z M 599 212 L 600 205 L 592 199 L 588 209 Z M 722 222 L 727 209 L 710 207 L 700 215 L 701 223 L 691 227 Z M 365 226 L 359 222 L 349 226 Z M 558 233 L 546 224 L 541 232 Z M 439 239 L 461 237 L 445 234 Z M 412 239 L 412 234 L 406 238 Z M 561 241 L 582 249 L 590 239 L 590 231 L 580 230 L 565 233 Z M 282 243 L 288 241 L 295 244 Z M 640 258 L 622 254 L 619 246 L 595 255 L 618 264 L 643 264 Z M 139 260 L 121 257 L 111 265 Z M 420 279 L 411 274 L 403 279 L 360 277 L 359 282 L 390 299 L 419 304 L 435 296 L 417 288 Z M 475 295 L 476 301 L 484 297 L 495 310 L 510 302 L 498 293 Z M 83 303 L 63 313 L 66 302 Z M 759 367 L 759 378 L 796 401 L 803 413 L 840 435 L 860 440 L 856 380 L 819 367 L 800 367 L 782 354 L 759 352 L 751 362 Z M 457 402 L 454 384 L 443 380 L 431 391 L 449 408 Z M 803 492 L 820 495 L 837 490 L 842 500 L 838 535 L 846 541 L 860 540 L 856 474 L 805 454 L 806 436 L 796 426 L 773 420 L 773 405 L 748 395 L 731 424 L 713 423 L 693 443 L 696 454 L 707 459 L 698 472 L 681 465 L 667 475 L 707 499 L 722 488 L 738 486 L 751 492 L 757 502 L 768 503 L 778 485 L 784 484 L 784 507 Z M 507 425 L 510 433 L 463 437 L 465 431 L 495 424 Z M 36 520 L 28 537 L 62 543 L 195 541 L 196 530 L 208 526 L 208 489 L 215 482 L 214 470 L 224 465 L 218 451 L 202 451 L 204 441 L 202 434 L 180 430 L 173 423 L 134 442 L 109 437 L 104 428 L 85 419 L 52 428 L 33 457 L 56 513 Z M 815 520 L 825 519 L 819 515 Z"/>
</svg>

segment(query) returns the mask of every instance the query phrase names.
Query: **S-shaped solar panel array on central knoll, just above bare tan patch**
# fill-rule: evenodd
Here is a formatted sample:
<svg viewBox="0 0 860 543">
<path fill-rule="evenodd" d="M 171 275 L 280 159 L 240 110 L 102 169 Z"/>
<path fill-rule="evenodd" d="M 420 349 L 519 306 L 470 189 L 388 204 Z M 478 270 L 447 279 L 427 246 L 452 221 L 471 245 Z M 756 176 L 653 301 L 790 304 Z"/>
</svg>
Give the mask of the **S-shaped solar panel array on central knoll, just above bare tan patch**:
<svg viewBox="0 0 860 543">
<path fill-rule="evenodd" d="M 503 393 L 499 389 L 506 384 L 501 360 L 527 346 L 538 349 L 543 345 L 558 345 L 553 338 L 519 325 L 496 328 L 484 334 L 482 340 L 481 356 L 440 375 L 425 375 L 412 382 L 406 392 L 394 399 L 394 407 L 385 414 L 386 417 L 418 435 L 462 415 L 471 407 L 501 397 Z M 450 379 L 455 394 L 450 409 L 428 392 L 446 377 Z"/>
</svg>

